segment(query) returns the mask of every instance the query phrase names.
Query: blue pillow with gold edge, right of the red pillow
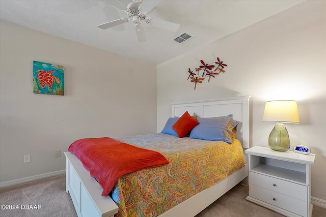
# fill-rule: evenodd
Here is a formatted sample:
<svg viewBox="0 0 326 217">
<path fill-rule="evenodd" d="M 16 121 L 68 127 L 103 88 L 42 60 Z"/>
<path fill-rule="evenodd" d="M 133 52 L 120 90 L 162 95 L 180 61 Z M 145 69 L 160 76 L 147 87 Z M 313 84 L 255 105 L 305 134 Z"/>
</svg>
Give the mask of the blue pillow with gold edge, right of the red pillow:
<svg viewBox="0 0 326 217">
<path fill-rule="evenodd" d="M 232 131 L 236 130 L 237 121 L 230 118 L 201 117 L 198 117 L 197 120 L 199 125 L 192 130 L 189 138 L 232 143 Z"/>
</svg>

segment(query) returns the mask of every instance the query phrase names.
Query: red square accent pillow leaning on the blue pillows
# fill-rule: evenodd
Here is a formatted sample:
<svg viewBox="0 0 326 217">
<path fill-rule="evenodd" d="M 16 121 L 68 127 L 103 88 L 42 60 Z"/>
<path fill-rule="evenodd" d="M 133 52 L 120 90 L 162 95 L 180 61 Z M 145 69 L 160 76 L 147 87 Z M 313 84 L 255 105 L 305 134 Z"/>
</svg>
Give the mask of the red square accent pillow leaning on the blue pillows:
<svg viewBox="0 0 326 217">
<path fill-rule="evenodd" d="M 190 131 L 199 125 L 199 122 L 186 111 L 184 114 L 172 125 L 178 137 L 185 137 Z"/>
</svg>

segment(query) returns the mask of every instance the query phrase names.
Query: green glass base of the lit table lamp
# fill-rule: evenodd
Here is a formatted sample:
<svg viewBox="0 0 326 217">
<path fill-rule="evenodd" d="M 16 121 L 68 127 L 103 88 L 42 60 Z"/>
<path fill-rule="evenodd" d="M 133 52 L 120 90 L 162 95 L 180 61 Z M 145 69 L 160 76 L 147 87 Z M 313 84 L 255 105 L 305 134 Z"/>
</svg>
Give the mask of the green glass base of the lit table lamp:
<svg viewBox="0 0 326 217">
<path fill-rule="evenodd" d="M 290 149 L 289 134 L 282 122 L 277 122 L 268 137 L 270 149 L 276 151 L 287 151 Z"/>
</svg>

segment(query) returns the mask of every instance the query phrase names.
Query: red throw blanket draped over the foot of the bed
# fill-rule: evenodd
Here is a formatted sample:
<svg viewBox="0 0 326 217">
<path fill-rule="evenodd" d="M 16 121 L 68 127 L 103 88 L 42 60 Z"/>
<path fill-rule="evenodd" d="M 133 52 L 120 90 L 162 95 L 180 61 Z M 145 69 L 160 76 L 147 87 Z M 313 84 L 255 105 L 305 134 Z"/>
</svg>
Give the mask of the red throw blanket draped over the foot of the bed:
<svg viewBox="0 0 326 217">
<path fill-rule="evenodd" d="M 107 196 L 115 183 L 125 174 L 166 165 L 169 161 L 162 154 L 103 138 L 79 139 L 68 149 L 83 163 L 103 188 L 102 196 Z"/>
</svg>

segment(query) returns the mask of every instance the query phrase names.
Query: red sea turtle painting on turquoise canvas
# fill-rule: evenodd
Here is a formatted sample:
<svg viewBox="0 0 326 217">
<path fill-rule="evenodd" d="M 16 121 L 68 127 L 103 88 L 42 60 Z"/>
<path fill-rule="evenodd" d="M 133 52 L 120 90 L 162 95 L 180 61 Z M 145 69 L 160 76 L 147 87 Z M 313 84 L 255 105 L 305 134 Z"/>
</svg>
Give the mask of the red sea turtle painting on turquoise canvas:
<svg viewBox="0 0 326 217">
<path fill-rule="evenodd" d="M 64 67 L 34 61 L 34 93 L 64 95 Z"/>
</svg>

